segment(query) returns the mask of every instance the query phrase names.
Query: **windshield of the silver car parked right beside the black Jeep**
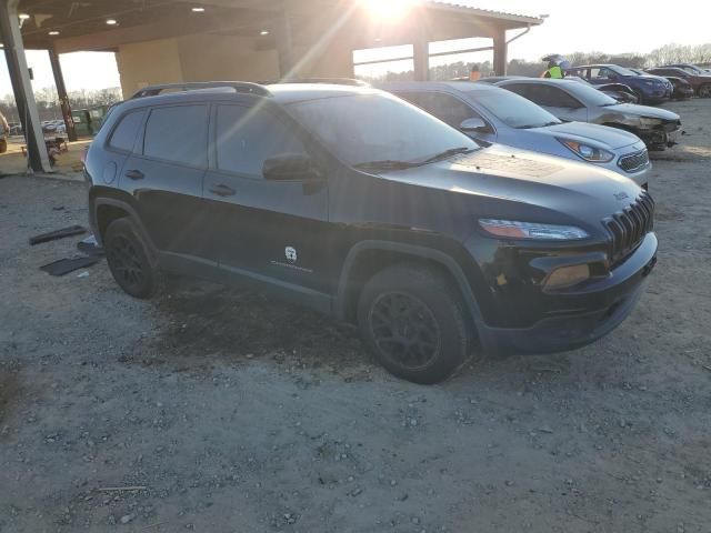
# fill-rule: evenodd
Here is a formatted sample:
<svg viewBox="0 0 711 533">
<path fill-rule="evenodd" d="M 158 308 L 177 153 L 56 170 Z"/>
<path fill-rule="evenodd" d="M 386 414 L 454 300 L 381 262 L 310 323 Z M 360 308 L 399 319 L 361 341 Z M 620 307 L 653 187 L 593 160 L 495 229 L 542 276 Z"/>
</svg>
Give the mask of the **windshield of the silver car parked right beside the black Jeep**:
<svg viewBox="0 0 711 533">
<path fill-rule="evenodd" d="M 543 108 L 510 91 L 469 91 L 469 98 L 511 128 L 542 128 L 561 123 Z"/>
</svg>

